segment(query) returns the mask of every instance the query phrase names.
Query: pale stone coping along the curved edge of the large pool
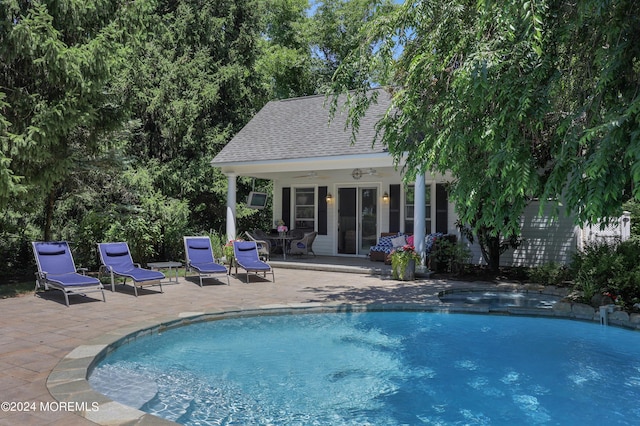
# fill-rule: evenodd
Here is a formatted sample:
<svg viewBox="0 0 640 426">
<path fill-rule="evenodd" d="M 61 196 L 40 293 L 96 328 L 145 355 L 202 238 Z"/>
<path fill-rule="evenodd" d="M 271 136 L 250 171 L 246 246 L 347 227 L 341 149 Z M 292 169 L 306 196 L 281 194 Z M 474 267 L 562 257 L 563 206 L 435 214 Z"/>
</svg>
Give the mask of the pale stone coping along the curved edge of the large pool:
<svg viewBox="0 0 640 426">
<path fill-rule="evenodd" d="M 481 288 L 475 288 L 479 291 Z M 495 287 L 492 289 L 495 291 Z M 465 291 L 459 289 L 458 291 Z M 532 290 L 538 294 L 558 295 L 553 291 Z M 451 291 L 443 291 L 449 294 Z M 94 390 L 88 378 L 93 368 L 122 345 L 138 338 L 181 327 L 188 324 L 217 321 L 230 318 L 288 315 L 300 313 L 349 313 L 349 312 L 433 312 L 433 313 L 468 313 L 468 314 L 501 314 L 536 316 L 558 319 L 572 319 L 587 322 L 600 322 L 600 312 L 589 305 L 568 301 L 557 302 L 552 309 L 505 307 L 493 308 L 481 304 L 449 304 L 449 303 L 290 303 L 257 306 L 255 308 L 228 307 L 212 312 L 181 312 L 178 316 L 168 316 L 161 319 L 140 323 L 136 326 L 123 327 L 91 339 L 69 352 L 51 371 L 46 386 L 51 396 L 65 408 L 73 411 L 99 425 L 176 425 L 170 420 L 143 412 L 117 401 Z M 618 312 L 618 311 L 616 311 Z M 633 330 L 640 330 L 640 314 L 629 316 L 622 312 L 613 312 L 608 324 Z M 622 315 L 622 314 L 626 314 Z"/>
</svg>

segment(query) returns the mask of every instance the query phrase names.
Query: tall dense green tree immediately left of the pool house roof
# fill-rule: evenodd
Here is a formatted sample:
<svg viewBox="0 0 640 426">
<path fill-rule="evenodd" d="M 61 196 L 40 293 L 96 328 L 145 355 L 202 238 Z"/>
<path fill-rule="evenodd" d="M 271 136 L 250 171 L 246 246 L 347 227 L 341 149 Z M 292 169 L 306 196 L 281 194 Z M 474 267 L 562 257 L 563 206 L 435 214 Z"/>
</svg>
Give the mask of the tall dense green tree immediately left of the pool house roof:
<svg viewBox="0 0 640 426">
<path fill-rule="evenodd" d="M 226 178 L 209 162 L 265 101 L 254 72 L 262 10 L 256 0 L 158 1 L 116 83 L 138 123 L 126 154 L 154 168 L 165 196 L 189 202 L 197 231 L 226 217 Z"/>
</svg>

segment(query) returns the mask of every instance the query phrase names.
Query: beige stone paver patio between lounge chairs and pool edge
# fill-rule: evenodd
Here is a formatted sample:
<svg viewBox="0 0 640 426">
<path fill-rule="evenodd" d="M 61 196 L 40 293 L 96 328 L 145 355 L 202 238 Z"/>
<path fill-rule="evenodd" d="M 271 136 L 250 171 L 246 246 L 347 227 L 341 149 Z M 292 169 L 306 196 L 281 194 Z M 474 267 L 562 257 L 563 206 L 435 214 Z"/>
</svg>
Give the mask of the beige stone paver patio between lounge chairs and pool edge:
<svg viewBox="0 0 640 426">
<path fill-rule="evenodd" d="M 64 370 L 65 363 L 70 358 L 85 356 L 78 355 L 78 351 L 91 349 L 95 342 L 110 342 L 114 340 L 113 336 L 160 322 L 203 312 L 283 306 L 441 306 L 440 291 L 496 286 L 435 279 L 402 282 L 365 272 L 277 266 L 275 274 L 275 283 L 254 276 L 246 284 L 245 275 L 239 274 L 238 277 L 231 276 L 230 286 L 226 285 L 226 280 L 224 283 L 207 280 L 202 288 L 196 278 L 180 278 L 178 284 L 164 285 L 164 294 L 160 294 L 157 287 L 145 288 L 137 298 L 131 286 L 118 286 L 115 293 L 106 291 L 106 303 L 99 299 L 99 293 L 93 293 L 90 295 L 93 297 L 71 296 L 68 308 L 59 291 L 0 300 L 0 402 L 11 404 L 8 410 L 6 404 L 0 410 L 0 425 L 95 424 L 74 413 L 73 405 L 65 407 L 64 401 L 55 399 L 50 393 L 52 388 L 58 397 L 72 396 L 77 391 L 65 389 L 66 384 L 59 381 L 58 375 Z M 57 373 L 52 375 L 52 371 Z M 106 409 L 103 413 L 99 411 L 88 417 L 101 424 L 125 423 L 118 420 L 122 417 L 109 418 Z M 158 421 L 146 418 L 126 423 L 156 424 Z"/>
</svg>

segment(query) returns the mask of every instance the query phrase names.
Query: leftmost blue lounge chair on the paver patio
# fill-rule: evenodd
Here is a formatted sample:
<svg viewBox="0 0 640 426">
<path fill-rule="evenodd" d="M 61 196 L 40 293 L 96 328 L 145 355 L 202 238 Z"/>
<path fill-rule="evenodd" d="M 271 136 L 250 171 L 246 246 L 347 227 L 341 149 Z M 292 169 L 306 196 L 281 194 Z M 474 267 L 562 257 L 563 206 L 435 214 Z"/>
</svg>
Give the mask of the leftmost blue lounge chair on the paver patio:
<svg viewBox="0 0 640 426">
<path fill-rule="evenodd" d="M 64 294 L 67 307 L 69 306 L 69 294 L 85 296 L 86 293 L 99 291 L 102 293 L 102 301 L 107 301 L 100 280 L 84 275 L 84 269 L 81 269 L 82 274 L 78 273 L 69 244 L 66 241 L 34 241 L 31 244 L 38 266 L 36 293 L 40 287 L 45 290 L 49 290 L 49 288 L 60 290 Z"/>
</svg>

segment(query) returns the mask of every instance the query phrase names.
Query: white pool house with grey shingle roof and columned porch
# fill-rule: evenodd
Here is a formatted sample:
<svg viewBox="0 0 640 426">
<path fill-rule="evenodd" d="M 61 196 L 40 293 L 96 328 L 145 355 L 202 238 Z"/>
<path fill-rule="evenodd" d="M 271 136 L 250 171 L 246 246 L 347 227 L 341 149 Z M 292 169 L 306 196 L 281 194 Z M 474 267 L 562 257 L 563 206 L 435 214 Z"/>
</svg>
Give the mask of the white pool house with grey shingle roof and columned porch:
<svg viewBox="0 0 640 426">
<path fill-rule="evenodd" d="M 313 251 L 325 259 L 369 262 L 381 234 L 400 232 L 415 236 L 424 259 L 426 234 L 455 229 L 446 177 L 419 174 L 405 185 L 401 165 L 373 143 L 389 105 L 381 92 L 354 141 L 345 115 L 329 119 L 324 96 L 269 102 L 211 162 L 227 176 L 227 238 L 251 231 L 236 227 L 237 206 L 247 201 L 236 181 L 251 177 L 273 182 L 273 228 L 317 233 Z"/>
</svg>

